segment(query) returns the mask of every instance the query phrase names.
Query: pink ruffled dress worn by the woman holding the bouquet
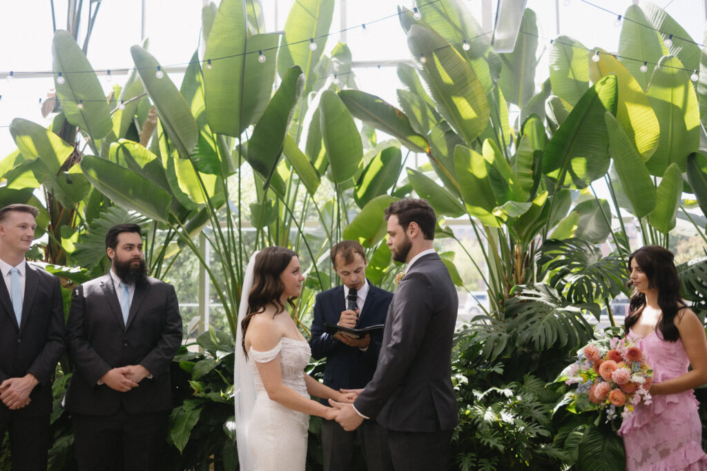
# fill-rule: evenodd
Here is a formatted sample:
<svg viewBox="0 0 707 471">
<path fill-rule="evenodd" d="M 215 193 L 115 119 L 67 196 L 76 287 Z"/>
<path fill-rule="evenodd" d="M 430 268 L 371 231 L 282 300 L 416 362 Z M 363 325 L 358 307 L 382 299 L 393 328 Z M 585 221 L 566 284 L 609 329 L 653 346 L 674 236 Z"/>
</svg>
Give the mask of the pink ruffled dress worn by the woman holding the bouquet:
<svg viewBox="0 0 707 471">
<path fill-rule="evenodd" d="M 656 383 L 686 373 L 689 359 L 682 340 L 665 342 L 653 332 L 639 340 L 638 347 Z M 697 407 L 693 390 L 656 395 L 652 403 L 639 404 L 619 429 L 626 447 L 626 470 L 707 470 Z"/>
</svg>

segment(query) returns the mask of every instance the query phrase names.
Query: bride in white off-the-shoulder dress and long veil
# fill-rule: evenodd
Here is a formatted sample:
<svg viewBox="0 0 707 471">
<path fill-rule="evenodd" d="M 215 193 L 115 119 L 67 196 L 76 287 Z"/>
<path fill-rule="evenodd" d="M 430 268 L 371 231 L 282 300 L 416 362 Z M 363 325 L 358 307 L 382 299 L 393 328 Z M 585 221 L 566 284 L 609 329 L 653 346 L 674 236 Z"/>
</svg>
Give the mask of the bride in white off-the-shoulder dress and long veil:
<svg viewBox="0 0 707 471">
<path fill-rule="evenodd" d="M 311 400 L 310 395 L 346 403 L 356 397 L 324 386 L 304 372 L 310 347 L 286 310 L 286 303 L 294 306 L 304 278 L 297 254 L 283 247 L 262 249 L 248 263 L 235 349 L 241 470 L 303 471 L 309 416 L 332 420 L 339 412 Z"/>
</svg>

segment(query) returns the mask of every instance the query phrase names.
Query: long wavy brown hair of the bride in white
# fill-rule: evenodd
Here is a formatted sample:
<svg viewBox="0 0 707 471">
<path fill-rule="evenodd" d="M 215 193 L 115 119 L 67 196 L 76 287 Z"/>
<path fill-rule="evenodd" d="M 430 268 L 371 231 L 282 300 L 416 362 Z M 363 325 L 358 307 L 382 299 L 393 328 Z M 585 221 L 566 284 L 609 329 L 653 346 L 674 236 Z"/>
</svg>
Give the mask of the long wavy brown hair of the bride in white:
<svg viewBox="0 0 707 471">
<path fill-rule="evenodd" d="M 243 330 L 242 346 L 245 354 L 248 353 L 245 350 L 245 331 L 250 319 L 256 314 L 262 313 L 268 304 L 275 306 L 273 317 L 285 310 L 284 304 L 280 301 L 280 297 L 285 291 L 285 285 L 280 280 L 280 275 L 290 264 L 292 257 L 296 256 L 295 251 L 278 246 L 266 247 L 255 256 L 253 287 L 248 293 L 248 314 L 240 322 L 240 328 Z M 295 306 L 292 302 L 293 299 L 295 298 L 287 299 L 287 303 L 292 307 Z"/>
</svg>

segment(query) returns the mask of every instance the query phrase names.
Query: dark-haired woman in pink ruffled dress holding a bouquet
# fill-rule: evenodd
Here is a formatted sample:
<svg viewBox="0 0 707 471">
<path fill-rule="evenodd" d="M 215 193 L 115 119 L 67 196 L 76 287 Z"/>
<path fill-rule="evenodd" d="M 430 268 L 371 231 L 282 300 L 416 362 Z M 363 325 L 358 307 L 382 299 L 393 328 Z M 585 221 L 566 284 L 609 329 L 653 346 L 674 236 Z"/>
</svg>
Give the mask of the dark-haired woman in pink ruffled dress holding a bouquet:
<svg viewBox="0 0 707 471">
<path fill-rule="evenodd" d="M 707 470 L 693 393 L 707 383 L 704 326 L 680 298 L 670 251 L 638 249 L 629 258 L 629 272 L 634 291 L 624 331 L 641 337 L 638 346 L 653 368 L 653 401 L 639 404 L 619 429 L 626 470 Z"/>
</svg>

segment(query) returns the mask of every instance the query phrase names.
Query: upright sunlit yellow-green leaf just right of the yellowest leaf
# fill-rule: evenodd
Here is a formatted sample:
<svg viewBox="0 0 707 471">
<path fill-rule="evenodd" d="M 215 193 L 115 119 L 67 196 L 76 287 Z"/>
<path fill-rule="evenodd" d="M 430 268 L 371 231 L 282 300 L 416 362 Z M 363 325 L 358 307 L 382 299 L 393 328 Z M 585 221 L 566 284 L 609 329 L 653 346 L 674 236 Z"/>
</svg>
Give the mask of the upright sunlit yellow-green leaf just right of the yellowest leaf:
<svg viewBox="0 0 707 471">
<path fill-rule="evenodd" d="M 699 148 L 700 114 L 689 76 L 677 58 L 665 56 L 650 78 L 648 100 L 660 122 L 660 141 L 646 167 L 656 177 L 673 162 L 684 171 L 687 156 Z"/>
</svg>

